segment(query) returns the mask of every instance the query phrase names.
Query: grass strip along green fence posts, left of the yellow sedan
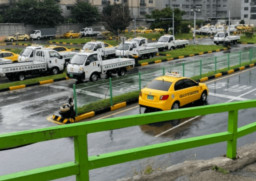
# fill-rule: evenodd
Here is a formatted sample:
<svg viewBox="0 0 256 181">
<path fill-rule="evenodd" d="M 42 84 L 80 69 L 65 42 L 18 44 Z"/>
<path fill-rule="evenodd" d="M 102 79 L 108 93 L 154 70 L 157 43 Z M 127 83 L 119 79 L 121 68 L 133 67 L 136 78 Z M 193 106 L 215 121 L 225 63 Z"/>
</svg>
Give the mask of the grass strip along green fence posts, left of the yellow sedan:
<svg viewBox="0 0 256 181">
<path fill-rule="evenodd" d="M 113 105 L 115 105 L 116 103 L 128 101 L 129 99 L 134 99 L 134 98 L 138 98 L 138 97 L 139 97 L 139 90 L 121 94 L 121 95 L 117 95 L 117 96 L 113 97 Z M 109 106 L 111 106 L 110 98 L 99 100 L 96 102 L 91 102 L 87 105 L 78 107 L 77 112 L 79 115 L 79 114 L 83 114 L 83 113 L 86 113 L 89 111 L 100 110 L 104 107 L 109 107 Z"/>
</svg>

